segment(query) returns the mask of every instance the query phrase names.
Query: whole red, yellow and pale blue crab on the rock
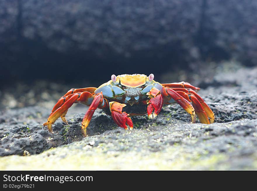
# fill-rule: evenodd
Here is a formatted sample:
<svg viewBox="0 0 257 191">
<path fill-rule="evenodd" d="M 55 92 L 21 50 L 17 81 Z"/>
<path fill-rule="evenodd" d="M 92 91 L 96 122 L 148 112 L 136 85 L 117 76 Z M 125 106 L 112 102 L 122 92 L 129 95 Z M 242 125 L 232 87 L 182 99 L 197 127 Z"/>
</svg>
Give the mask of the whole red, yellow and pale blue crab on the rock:
<svg viewBox="0 0 257 191">
<path fill-rule="evenodd" d="M 154 81 L 154 75 L 124 74 L 112 75 L 111 80 L 98 88 L 88 87 L 71 89 L 62 96 L 53 107 L 52 113 L 43 125 L 52 132 L 52 124 L 61 117 L 68 124 L 65 115 L 74 103 L 89 106 L 83 120 L 82 133 L 86 137 L 86 128 L 95 112 L 103 109 L 111 115 L 114 122 L 124 129 L 133 129 L 130 116 L 148 114 L 155 118 L 163 105 L 178 103 L 191 116 L 191 123 L 196 122 L 196 115 L 201 123 L 214 122 L 214 114 L 204 100 L 196 93 L 200 88 L 187 82 L 161 84 Z M 191 104 L 191 103 L 192 104 Z"/>
</svg>

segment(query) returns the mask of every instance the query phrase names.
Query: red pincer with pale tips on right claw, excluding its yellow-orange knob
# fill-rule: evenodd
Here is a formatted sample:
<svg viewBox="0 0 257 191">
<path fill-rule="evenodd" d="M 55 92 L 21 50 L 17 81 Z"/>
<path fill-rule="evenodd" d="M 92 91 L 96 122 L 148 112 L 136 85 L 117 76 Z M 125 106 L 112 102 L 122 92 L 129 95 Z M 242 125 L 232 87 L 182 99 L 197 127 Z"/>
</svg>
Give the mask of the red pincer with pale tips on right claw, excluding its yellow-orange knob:
<svg viewBox="0 0 257 191">
<path fill-rule="evenodd" d="M 150 119 L 155 118 L 161 111 L 163 105 L 162 95 L 159 94 L 154 98 L 149 100 L 149 105 L 147 106 L 147 114 Z"/>
</svg>

